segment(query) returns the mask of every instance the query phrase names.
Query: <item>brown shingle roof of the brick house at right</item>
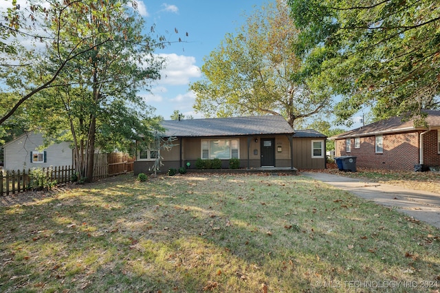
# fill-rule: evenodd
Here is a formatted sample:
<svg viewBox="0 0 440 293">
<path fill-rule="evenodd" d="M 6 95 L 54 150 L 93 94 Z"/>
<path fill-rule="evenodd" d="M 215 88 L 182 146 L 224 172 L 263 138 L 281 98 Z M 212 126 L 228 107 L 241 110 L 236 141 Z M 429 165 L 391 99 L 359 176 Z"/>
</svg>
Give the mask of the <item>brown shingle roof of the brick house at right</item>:
<svg viewBox="0 0 440 293">
<path fill-rule="evenodd" d="M 430 128 L 440 128 L 440 111 L 437 110 L 423 110 L 427 113 L 426 122 Z M 379 135 L 385 133 L 397 133 L 397 132 L 409 132 L 415 130 L 424 130 L 428 127 L 415 127 L 415 119 L 410 119 L 407 121 L 402 121 L 402 117 L 391 117 L 385 120 L 380 120 L 357 129 L 353 129 L 339 135 L 334 135 L 331 140 L 339 140 L 343 138 L 353 138 L 355 136 L 368 136 L 368 135 Z"/>
</svg>

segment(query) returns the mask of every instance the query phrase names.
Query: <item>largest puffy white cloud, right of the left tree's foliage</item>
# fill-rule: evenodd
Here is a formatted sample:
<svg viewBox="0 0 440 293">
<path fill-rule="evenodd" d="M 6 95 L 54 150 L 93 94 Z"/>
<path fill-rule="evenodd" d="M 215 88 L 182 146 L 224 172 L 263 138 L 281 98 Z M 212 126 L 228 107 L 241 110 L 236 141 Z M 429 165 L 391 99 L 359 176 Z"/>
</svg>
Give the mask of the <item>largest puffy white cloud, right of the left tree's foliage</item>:
<svg viewBox="0 0 440 293">
<path fill-rule="evenodd" d="M 188 85 L 190 78 L 201 76 L 199 67 L 195 65 L 195 57 L 177 54 L 159 54 L 166 58 L 165 69 L 161 71 L 161 85 Z"/>
</svg>

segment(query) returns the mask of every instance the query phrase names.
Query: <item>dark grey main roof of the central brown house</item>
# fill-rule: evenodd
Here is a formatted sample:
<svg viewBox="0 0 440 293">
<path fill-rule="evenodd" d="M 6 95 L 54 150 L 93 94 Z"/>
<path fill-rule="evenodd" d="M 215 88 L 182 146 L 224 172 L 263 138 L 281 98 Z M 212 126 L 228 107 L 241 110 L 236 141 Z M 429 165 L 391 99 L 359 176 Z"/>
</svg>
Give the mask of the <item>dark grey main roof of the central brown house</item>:
<svg viewBox="0 0 440 293">
<path fill-rule="evenodd" d="M 283 116 L 164 120 L 162 127 L 166 136 L 187 138 L 294 133 Z"/>
</svg>

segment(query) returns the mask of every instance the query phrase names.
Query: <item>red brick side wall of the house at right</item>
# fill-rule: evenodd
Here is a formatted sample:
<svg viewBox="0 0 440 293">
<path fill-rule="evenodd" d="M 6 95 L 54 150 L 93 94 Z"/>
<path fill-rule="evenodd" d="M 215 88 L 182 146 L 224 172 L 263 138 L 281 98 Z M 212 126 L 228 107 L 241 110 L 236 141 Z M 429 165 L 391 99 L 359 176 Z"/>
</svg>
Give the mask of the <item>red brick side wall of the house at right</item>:
<svg viewBox="0 0 440 293">
<path fill-rule="evenodd" d="M 346 140 L 336 140 L 335 156 L 357 157 L 356 165 L 375 169 L 413 170 L 419 164 L 419 133 L 382 135 L 383 153 L 375 153 L 375 135 L 360 138 L 360 149 L 355 149 L 351 138 L 351 152 L 346 151 Z"/>
</svg>

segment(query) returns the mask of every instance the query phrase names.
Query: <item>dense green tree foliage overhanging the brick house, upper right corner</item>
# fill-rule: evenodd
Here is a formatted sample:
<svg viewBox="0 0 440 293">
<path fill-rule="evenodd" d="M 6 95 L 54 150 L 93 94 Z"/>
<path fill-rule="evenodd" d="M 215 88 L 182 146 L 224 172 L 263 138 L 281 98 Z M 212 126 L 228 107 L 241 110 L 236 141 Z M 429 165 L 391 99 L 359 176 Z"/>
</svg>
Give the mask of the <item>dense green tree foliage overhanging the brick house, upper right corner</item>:
<svg viewBox="0 0 440 293">
<path fill-rule="evenodd" d="M 340 95 L 339 122 L 362 107 L 376 119 L 437 109 L 440 2 L 437 0 L 289 0 L 301 29 L 298 78 Z"/>
</svg>

